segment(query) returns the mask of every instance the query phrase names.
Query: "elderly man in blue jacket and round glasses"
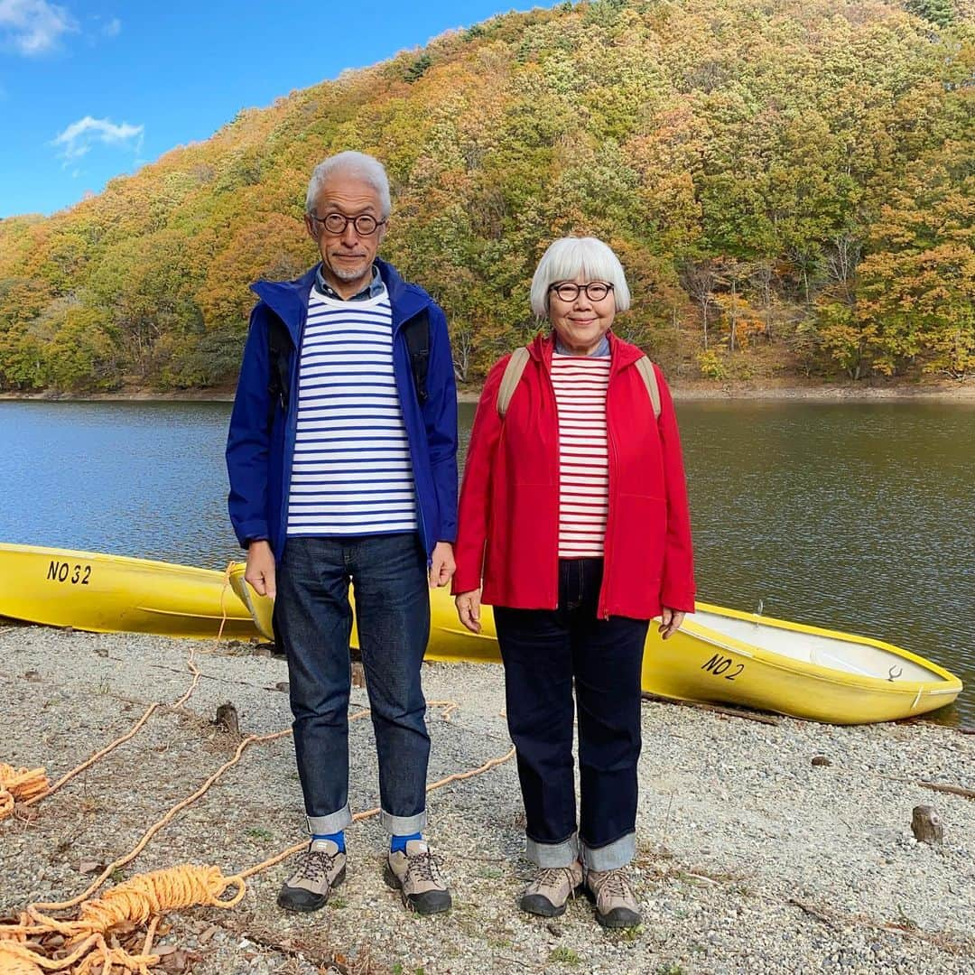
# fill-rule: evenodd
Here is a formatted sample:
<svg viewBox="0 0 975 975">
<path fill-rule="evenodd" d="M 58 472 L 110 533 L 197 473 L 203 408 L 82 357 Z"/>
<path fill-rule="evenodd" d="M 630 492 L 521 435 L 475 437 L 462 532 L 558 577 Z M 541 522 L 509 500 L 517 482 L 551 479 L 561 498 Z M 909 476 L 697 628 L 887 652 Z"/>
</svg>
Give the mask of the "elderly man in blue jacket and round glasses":
<svg viewBox="0 0 975 975">
<path fill-rule="evenodd" d="M 345 878 L 349 637 L 355 605 L 379 760 L 386 881 L 450 907 L 424 842 L 430 738 L 420 664 L 427 586 L 453 573 L 457 411 L 447 321 L 376 257 L 389 183 L 371 156 L 316 167 L 305 226 L 321 262 L 258 282 L 227 439 L 247 580 L 275 599 L 311 842 L 278 904 L 316 911 Z"/>
</svg>

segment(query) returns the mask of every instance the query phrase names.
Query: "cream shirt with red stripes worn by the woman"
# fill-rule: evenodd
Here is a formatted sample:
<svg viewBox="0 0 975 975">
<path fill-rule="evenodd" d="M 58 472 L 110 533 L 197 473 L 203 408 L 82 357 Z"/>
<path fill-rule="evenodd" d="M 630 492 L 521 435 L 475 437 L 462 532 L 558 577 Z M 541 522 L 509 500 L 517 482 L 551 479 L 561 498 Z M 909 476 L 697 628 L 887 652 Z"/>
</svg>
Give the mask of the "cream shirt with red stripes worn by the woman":
<svg viewBox="0 0 975 975">
<path fill-rule="evenodd" d="M 559 558 L 603 555 L 609 499 L 609 356 L 552 357 L 559 410 Z"/>
</svg>

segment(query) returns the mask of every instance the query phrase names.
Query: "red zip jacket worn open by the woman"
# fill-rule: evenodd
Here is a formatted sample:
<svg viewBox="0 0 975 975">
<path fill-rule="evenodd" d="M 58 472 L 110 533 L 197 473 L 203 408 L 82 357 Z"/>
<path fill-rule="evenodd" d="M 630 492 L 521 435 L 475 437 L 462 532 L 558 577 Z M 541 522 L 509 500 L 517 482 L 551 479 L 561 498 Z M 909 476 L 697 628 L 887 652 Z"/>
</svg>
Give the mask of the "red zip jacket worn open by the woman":
<svg viewBox="0 0 975 975">
<path fill-rule="evenodd" d="M 598 615 L 649 619 L 661 606 L 694 611 L 690 518 L 670 391 L 660 418 L 635 363 L 643 353 L 608 332 L 609 507 Z M 490 605 L 555 609 L 559 602 L 559 417 L 551 335 L 536 336 L 507 414 L 498 387 L 510 356 L 487 375 L 467 453 L 453 593 L 482 586 Z"/>
</svg>

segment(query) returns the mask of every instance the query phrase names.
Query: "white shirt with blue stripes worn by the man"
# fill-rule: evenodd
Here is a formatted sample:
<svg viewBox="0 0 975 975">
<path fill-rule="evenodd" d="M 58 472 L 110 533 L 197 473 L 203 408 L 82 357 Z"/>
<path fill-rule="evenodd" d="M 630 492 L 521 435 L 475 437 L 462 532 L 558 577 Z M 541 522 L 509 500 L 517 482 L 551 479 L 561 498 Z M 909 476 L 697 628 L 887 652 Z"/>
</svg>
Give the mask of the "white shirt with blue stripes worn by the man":
<svg viewBox="0 0 975 975">
<path fill-rule="evenodd" d="M 289 536 L 415 531 L 385 288 L 356 301 L 312 289 L 299 363 Z"/>
</svg>

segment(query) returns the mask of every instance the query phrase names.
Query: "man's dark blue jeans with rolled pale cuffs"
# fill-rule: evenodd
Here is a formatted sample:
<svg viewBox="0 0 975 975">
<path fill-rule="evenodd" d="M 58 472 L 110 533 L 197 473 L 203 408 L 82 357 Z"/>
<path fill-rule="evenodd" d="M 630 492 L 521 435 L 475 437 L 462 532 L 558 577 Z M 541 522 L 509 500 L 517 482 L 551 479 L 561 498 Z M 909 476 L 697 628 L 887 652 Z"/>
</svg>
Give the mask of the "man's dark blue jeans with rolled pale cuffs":
<svg viewBox="0 0 975 975">
<path fill-rule="evenodd" d="M 415 534 L 289 538 L 274 624 L 288 654 L 294 753 L 308 829 L 337 833 L 349 809 L 349 636 L 356 617 L 379 758 L 381 822 L 426 825 L 430 736 L 420 664 L 430 634 L 426 555 Z"/>
</svg>

